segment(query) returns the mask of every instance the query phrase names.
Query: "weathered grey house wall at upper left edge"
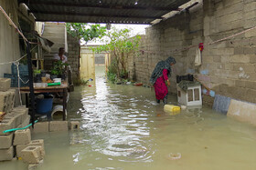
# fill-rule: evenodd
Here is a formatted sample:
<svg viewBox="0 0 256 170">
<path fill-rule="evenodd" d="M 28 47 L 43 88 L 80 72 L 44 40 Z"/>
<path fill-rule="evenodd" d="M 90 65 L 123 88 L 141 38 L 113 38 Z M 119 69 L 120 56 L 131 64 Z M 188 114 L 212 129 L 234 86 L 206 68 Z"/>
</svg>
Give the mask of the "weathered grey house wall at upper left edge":
<svg viewBox="0 0 256 170">
<path fill-rule="evenodd" d="M 17 26 L 18 18 L 22 18 L 29 21 L 33 27 L 35 20 L 32 15 L 27 15 L 27 8 L 24 5 L 18 7 L 16 0 L 0 0 L 0 5 Z M 0 12 L 0 63 L 12 62 L 20 57 L 19 35 Z M 3 77 L 4 73 L 11 73 L 11 64 L 0 65 L 0 77 Z"/>
</svg>

